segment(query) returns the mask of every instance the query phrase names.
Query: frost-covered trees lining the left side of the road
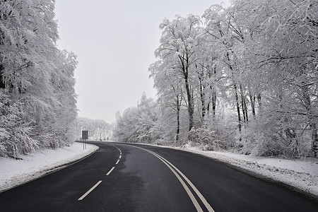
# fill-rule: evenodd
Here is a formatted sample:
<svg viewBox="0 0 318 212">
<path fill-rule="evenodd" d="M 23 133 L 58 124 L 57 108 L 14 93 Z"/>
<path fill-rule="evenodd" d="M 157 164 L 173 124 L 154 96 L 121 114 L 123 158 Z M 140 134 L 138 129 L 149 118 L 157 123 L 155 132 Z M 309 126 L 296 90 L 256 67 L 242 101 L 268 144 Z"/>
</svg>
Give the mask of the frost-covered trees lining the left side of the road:
<svg viewBox="0 0 318 212">
<path fill-rule="evenodd" d="M 0 156 L 75 140 L 76 55 L 57 48 L 52 0 L 0 1 Z"/>
</svg>

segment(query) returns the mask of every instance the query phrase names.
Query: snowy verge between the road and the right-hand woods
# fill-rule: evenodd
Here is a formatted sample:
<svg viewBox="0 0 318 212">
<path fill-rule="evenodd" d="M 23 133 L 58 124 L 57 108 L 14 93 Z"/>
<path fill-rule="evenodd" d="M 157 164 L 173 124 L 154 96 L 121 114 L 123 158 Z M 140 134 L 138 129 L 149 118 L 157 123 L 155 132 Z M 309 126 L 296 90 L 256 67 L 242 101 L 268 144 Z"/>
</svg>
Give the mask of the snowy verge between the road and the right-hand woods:
<svg viewBox="0 0 318 212">
<path fill-rule="evenodd" d="M 300 160 L 266 158 L 236 153 L 202 151 L 202 148 L 198 146 L 189 145 L 176 149 L 205 155 L 208 158 L 220 160 L 318 196 L 318 158 Z"/>
</svg>

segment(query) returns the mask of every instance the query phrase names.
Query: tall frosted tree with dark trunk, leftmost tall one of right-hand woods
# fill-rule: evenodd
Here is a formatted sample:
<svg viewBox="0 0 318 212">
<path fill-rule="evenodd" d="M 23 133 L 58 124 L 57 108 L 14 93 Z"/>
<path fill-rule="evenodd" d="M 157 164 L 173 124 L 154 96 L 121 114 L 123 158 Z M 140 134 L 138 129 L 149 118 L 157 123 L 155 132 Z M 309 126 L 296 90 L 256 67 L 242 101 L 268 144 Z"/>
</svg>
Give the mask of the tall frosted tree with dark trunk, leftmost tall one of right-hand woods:
<svg viewBox="0 0 318 212">
<path fill-rule="evenodd" d="M 189 114 L 189 131 L 194 126 L 194 95 L 193 95 L 193 69 L 196 61 L 195 52 L 198 45 L 197 37 L 200 27 L 199 16 L 189 15 L 187 18 L 176 16 L 172 21 L 163 20 L 160 29 L 163 30 L 160 47 L 155 50 L 156 57 L 165 61 L 173 58 L 175 61 L 175 76 L 184 80 L 187 94 L 187 107 Z"/>
</svg>

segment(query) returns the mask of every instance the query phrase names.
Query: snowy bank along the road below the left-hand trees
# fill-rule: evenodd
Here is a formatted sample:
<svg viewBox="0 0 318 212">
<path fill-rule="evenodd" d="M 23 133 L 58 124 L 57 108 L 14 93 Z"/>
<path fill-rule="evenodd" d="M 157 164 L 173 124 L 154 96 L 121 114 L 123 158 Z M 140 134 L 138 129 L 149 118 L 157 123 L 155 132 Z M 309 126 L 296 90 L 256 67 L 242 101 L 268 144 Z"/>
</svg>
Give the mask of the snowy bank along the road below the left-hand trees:
<svg viewBox="0 0 318 212">
<path fill-rule="evenodd" d="M 33 155 L 21 155 L 22 160 L 0 158 L 0 192 L 59 170 L 96 150 L 98 146 L 95 145 L 87 144 L 83 149 L 82 143 L 73 143 L 55 150 L 41 148 Z"/>
</svg>

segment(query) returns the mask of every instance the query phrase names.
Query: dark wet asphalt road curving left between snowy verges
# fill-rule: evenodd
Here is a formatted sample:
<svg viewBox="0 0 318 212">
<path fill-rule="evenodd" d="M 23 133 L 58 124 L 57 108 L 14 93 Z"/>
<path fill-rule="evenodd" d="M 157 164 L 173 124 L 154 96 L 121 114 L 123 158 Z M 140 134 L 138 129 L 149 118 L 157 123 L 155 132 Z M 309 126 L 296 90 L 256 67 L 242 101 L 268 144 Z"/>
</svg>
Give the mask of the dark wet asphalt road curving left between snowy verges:
<svg viewBox="0 0 318 212">
<path fill-rule="evenodd" d="M 318 211 L 318 201 L 201 155 L 88 142 L 90 157 L 0 193 L 0 211 Z"/>
</svg>

